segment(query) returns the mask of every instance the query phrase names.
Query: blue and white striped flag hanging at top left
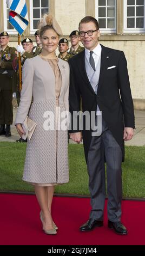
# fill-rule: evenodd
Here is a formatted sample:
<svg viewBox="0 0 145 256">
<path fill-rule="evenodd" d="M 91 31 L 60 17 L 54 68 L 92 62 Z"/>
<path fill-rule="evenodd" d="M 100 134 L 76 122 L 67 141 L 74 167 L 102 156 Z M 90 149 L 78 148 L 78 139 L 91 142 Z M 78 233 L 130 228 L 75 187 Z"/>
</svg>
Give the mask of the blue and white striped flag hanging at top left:
<svg viewBox="0 0 145 256">
<path fill-rule="evenodd" d="M 25 0 L 6 0 L 6 4 L 10 9 L 9 22 L 22 35 L 29 24 Z"/>
</svg>

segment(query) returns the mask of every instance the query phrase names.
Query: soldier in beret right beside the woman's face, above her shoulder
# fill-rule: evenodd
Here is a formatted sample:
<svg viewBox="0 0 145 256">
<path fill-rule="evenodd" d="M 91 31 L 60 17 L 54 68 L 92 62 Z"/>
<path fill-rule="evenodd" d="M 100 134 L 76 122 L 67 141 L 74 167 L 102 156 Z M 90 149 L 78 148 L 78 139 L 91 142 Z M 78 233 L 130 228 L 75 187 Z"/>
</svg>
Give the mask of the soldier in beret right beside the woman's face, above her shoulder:
<svg viewBox="0 0 145 256">
<path fill-rule="evenodd" d="M 60 52 L 60 54 L 58 55 L 58 58 L 65 60 L 65 62 L 68 62 L 68 60 L 74 56 L 72 53 L 68 52 L 69 42 L 66 38 L 62 38 L 59 41 L 58 50 Z"/>
</svg>

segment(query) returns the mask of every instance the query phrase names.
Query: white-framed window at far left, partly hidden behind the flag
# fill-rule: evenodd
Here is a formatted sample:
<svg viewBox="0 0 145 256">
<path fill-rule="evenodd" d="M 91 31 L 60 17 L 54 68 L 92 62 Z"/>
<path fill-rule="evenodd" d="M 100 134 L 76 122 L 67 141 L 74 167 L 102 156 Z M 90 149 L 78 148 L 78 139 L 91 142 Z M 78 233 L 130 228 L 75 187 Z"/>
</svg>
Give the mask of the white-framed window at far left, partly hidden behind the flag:
<svg viewBox="0 0 145 256">
<path fill-rule="evenodd" d="M 6 1 L 3 0 L 4 31 L 8 32 L 9 34 L 16 34 L 16 29 L 14 29 L 9 22 L 9 11 L 9 8 L 6 6 Z"/>
</svg>

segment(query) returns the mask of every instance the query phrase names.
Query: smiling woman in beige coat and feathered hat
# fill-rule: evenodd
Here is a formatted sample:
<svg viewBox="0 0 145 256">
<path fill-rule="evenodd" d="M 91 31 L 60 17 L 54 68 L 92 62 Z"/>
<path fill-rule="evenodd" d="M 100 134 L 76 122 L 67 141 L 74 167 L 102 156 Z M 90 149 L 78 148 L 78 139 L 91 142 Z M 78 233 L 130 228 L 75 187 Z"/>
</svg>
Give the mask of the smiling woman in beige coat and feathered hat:
<svg viewBox="0 0 145 256">
<path fill-rule="evenodd" d="M 21 137 L 28 112 L 29 118 L 37 123 L 27 144 L 23 180 L 35 186 L 46 234 L 56 234 L 58 229 L 51 216 L 55 185 L 69 181 L 68 131 L 58 127 L 58 117 L 61 119 L 63 113 L 66 118 L 64 113 L 69 111 L 69 65 L 55 56 L 61 34 L 56 20 L 45 15 L 40 29 L 43 51 L 24 63 L 21 102 L 15 121 Z M 30 107 L 32 96 L 34 101 Z M 50 112 L 54 118 L 51 116 L 50 119 Z M 48 129 L 49 125 L 52 125 L 51 129 Z"/>
</svg>

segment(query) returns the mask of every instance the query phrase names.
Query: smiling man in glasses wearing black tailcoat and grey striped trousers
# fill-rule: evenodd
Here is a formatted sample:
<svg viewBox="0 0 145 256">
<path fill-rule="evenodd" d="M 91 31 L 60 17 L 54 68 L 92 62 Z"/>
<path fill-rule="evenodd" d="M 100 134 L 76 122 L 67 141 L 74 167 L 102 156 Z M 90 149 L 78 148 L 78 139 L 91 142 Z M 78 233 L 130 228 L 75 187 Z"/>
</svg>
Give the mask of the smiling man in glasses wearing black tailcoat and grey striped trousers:
<svg viewBox="0 0 145 256">
<path fill-rule="evenodd" d="M 121 223 L 121 163 L 124 161 L 124 141 L 133 137 L 135 128 L 127 62 L 122 51 L 98 43 L 100 31 L 94 17 L 87 16 L 81 20 L 79 34 L 85 49 L 69 60 L 70 112 L 73 115 L 74 111 L 80 111 L 82 98 L 83 112 L 88 111 L 90 118 L 84 119 L 82 133 L 79 127 L 71 128 L 70 138 L 80 143 L 83 134 L 92 207 L 88 222 L 80 230 L 91 231 L 103 225 L 106 161 L 108 227 L 117 234 L 126 235 L 128 231 Z M 95 115 L 91 115 L 94 112 Z M 72 118 L 72 127 L 74 120 Z M 96 130 L 97 135 L 94 136 L 94 126 L 100 126 L 99 120 L 102 131 L 98 134 Z"/>
</svg>

